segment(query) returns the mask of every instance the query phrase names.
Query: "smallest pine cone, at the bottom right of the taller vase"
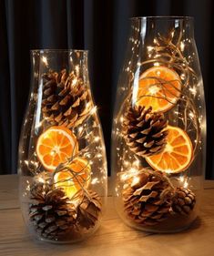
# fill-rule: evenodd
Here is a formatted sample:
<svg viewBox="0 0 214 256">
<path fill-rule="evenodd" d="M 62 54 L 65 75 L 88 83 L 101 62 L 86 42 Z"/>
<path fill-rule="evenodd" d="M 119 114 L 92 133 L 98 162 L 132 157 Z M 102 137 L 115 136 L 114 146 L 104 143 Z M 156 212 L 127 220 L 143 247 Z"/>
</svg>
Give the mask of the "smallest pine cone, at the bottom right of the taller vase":
<svg viewBox="0 0 214 256">
<path fill-rule="evenodd" d="M 190 189 L 177 188 L 172 202 L 174 212 L 188 215 L 196 204 L 196 196 Z"/>
</svg>

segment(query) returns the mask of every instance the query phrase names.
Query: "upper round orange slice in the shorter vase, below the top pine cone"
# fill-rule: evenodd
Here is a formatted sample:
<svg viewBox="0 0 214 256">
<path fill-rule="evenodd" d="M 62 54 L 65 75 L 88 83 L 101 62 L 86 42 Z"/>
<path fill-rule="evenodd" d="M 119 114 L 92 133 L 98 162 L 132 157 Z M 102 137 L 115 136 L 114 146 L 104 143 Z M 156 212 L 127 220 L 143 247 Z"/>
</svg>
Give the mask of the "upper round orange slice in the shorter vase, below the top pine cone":
<svg viewBox="0 0 214 256">
<path fill-rule="evenodd" d="M 78 151 L 76 136 L 64 127 L 48 128 L 40 135 L 36 144 L 36 154 L 42 165 L 54 170 Z"/>
</svg>

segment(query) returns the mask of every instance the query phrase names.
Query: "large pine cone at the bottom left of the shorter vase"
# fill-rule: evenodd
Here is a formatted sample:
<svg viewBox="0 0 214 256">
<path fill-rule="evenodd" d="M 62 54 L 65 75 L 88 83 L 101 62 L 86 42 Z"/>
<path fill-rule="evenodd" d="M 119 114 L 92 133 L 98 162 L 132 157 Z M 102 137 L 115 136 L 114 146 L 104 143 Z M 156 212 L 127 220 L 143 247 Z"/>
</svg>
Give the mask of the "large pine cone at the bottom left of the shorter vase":
<svg viewBox="0 0 214 256">
<path fill-rule="evenodd" d="M 29 217 L 36 232 L 43 238 L 61 240 L 75 229 L 76 210 L 62 189 L 35 183 L 30 190 Z"/>
</svg>

